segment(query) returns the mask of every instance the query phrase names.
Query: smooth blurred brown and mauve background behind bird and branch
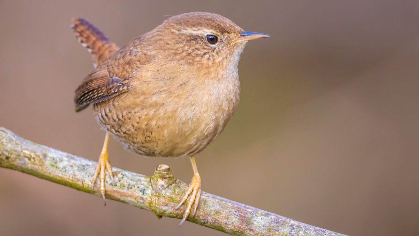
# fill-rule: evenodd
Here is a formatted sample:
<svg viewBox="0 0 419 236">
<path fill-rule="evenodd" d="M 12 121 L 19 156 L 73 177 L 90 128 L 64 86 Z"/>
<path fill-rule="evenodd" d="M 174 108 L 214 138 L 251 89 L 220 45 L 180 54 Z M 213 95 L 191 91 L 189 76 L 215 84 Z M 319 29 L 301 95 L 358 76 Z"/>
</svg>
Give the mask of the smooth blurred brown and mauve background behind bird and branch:
<svg viewBox="0 0 419 236">
<path fill-rule="evenodd" d="M 417 1 L 2 0 L 0 126 L 97 160 L 104 132 L 72 102 L 92 61 L 71 18 L 124 45 L 197 10 L 272 36 L 246 46 L 241 104 L 197 156 L 204 191 L 350 235 L 418 235 Z M 109 153 L 115 167 L 192 176 L 186 157 L 143 158 L 114 140 Z M 16 171 L 0 179 L 1 235 L 224 235 Z"/>
</svg>

